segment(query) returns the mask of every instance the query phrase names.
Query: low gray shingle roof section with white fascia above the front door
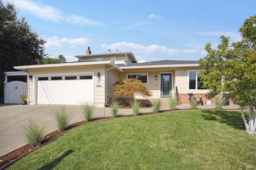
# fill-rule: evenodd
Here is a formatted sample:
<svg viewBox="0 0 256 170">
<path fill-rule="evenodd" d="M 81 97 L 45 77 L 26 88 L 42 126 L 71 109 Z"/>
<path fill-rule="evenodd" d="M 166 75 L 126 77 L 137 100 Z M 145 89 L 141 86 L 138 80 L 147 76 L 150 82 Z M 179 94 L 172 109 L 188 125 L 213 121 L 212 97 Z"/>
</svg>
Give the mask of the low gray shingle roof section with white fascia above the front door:
<svg viewBox="0 0 256 170">
<path fill-rule="evenodd" d="M 198 66 L 198 61 L 162 60 L 145 63 L 117 64 L 121 69 L 154 68 L 154 67 L 188 67 Z"/>
</svg>

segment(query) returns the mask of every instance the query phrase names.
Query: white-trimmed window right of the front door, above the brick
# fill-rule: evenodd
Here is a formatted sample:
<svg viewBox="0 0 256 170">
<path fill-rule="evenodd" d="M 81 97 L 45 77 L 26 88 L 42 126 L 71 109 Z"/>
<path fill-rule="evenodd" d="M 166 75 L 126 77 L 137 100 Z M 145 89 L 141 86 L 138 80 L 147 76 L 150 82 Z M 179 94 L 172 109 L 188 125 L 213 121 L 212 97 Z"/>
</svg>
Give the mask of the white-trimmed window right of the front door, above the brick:
<svg viewBox="0 0 256 170">
<path fill-rule="evenodd" d="M 194 71 L 188 71 L 188 89 L 189 90 L 205 90 L 200 81 L 200 77 L 198 76 L 198 73 L 200 71 L 194 70 Z"/>
</svg>

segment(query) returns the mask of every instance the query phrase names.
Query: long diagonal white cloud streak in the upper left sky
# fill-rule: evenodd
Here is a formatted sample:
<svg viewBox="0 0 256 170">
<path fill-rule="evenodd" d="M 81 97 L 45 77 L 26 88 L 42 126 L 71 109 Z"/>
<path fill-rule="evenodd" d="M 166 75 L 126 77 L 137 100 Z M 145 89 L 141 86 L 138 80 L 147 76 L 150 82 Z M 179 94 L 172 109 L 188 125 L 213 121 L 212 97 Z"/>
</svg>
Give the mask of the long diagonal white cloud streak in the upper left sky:
<svg viewBox="0 0 256 170">
<path fill-rule="evenodd" d="M 12 3 L 12 0 L 8 0 L 8 2 Z M 101 22 L 92 21 L 83 16 L 77 15 L 67 15 L 64 16 L 62 12 L 58 8 L 54 8 L 52 6 L 42 4 L 40 2 L 32 2 L 30 0 L 14 0 L 15 6 L 17 6 L 20 10 L 27 11 L 29 13 L 34 14 L 38 18 L 44 20 L 51 20 L 54 22 L 69 22 L 72 24 L 78 25 L 92 25 L 92 26 L 104 26 Z"/>
</svg>

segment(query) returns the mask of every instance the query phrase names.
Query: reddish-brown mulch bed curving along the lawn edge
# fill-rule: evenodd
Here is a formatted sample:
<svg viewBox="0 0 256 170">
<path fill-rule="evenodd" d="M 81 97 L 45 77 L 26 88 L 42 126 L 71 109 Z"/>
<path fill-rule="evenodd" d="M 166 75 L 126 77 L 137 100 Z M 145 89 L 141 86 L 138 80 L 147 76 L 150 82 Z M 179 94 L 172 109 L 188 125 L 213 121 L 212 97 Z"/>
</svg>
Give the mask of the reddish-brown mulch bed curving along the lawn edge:
<svg viewBox="0 0 256 170">
<path fill-rule="evenodd" d="M 145 106 L 145 107 L 142 107 L 142 108 L 146 108 L 146 107 L 148 107 L 148 106 Z M 124 109 L 124 108 L 131 108 L 131 107 L 128 106 L 128 105 L 122 105 L 122 106 L 120 106 L 120 108 Z M 169 111 L 169 110 L 167 110 L 167 111 Z M 158 113 L 164 113 L 164 112 L 167 112 L 167 111 L 160 111 Z M 149 112 L 149 113 L 143 113 L 140 116 L 143 116 L 143 115 L 153 115 L 153 114 L 158 114 L 158 113 Z M 100 117 L 100 118 L 93 119 L 92 122 L 94 122 L 94 121 L 102 121 L 102 120 L 106 120 L 106 119 L 118 119 L 118 118 L 123 118 L 123 117 L 133 117 L 133 116 L 134 115 L 121 115 L 121 116 L 118 116 L 116 118 Z M 68 130 L 74 128 L 74 127 L 77 127 L 79 125 L 83 125 L 85 123 L 87 123 L 87 122 L 86 121 L 80 121 L 80 122 L 68 125 L 66 130 L 55 130 L 55 131 L 51 132 L 50 134 L 46 135 L 41 140 L 41 145 L 40 146 L 42 146 L 42 145 L 44 145 L 44 144 L 46 144 L 48 142 L 51 142 L 52 140 L 54 140 L 58 136 L 62 135 L 66 131 L 68 131 Z M 32 146 L 30 144 L 26 144 L 25 146 L 22 146 L 21 148 L 18 148 L 17 150 L 14 150 L 13 152 L 10 152 L 9 154 L 6 154 L 6 155 L 0 157 L 0 168 L 3 168 L 3 167 L 5 168 L 6 165 L 14 163 L 16 159 L 20 158 L 21 156 L 26 155 L 27 153 L 31 152 L 32 150 L 34 150 L 34 149 L 36 149 L 36 148 L 38 148 L 40 146 Z"/>
</svg>

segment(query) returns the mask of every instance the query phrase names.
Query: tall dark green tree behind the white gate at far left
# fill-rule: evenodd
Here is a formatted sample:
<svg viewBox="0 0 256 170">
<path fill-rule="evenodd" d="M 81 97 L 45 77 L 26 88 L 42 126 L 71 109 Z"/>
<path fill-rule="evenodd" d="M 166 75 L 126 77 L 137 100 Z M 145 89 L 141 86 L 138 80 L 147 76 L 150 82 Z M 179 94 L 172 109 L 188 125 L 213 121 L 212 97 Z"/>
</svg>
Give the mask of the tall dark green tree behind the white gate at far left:
<svg viewBox="0 0 256 170">
<path fill-rule="evenodd" d="M 4 92 L 4 72 L 13 66 L 34 65 L 46 56 L 46 40 L 34 32 L 26 19 L 18 19 L 14 4 L 0 0 L 0 98 Z"/>
</svg>

